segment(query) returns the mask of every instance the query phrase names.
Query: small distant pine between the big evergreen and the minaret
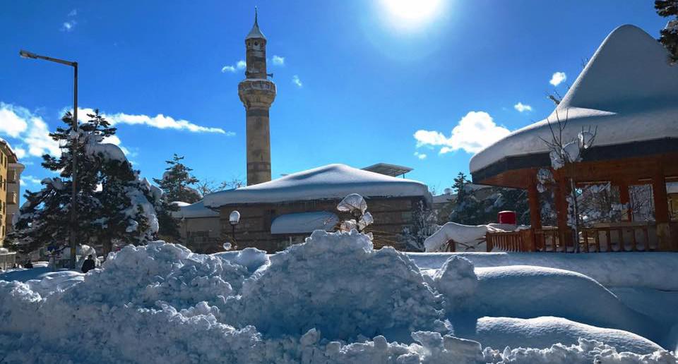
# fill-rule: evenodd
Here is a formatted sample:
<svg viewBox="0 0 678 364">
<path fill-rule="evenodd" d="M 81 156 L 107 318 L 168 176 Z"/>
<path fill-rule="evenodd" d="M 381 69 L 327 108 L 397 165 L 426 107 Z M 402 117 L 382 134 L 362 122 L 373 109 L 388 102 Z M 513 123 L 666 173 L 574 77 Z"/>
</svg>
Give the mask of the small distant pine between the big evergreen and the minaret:
<svg viewBox="0 0 678 364">
<path fill-rule="evenodd" d="M 172 160 L 165 161 L 168 166 L 162 178 L 153 178 L 153 182 L 165 192 L 169 202 L 198 202 L 201 200 L 201 195 L 198 190 L 191 188 L 191 185 L 198 183 L 198 178 L 191 176 L 193 169 L 184 165 L 183 159 L 184 157 L 174 154 Z"/>
</svg>

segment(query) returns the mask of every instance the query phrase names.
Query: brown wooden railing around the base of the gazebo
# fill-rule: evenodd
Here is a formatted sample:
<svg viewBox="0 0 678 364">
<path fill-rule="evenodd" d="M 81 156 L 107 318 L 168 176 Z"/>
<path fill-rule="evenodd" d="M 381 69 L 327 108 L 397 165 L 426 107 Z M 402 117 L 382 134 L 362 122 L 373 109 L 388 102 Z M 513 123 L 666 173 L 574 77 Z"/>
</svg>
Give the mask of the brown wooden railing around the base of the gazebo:
<svg viewBox="0 0 678 364">
<path fill-rule="evenodd" d="M 488 232 L 487 251 L 496 249 L 508 252 L 571 253 L 575 251 L 572 233 L 573 231 L 565 231 L 561 234 L 559 229 L 554 227 Z M 582 253 L 658 250 L 656 232 L 652 224 L 583 228 L 579 232 L 577 243 L 578 251 Z"/>
</svg>

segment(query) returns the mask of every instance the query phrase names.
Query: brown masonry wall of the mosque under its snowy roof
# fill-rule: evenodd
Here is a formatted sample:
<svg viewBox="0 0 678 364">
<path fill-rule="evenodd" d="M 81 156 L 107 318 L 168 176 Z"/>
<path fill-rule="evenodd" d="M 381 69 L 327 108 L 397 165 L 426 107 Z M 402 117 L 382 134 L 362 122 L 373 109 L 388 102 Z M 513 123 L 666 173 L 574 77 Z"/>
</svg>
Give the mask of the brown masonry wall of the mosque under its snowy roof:
<svg viewBox="0 0 678 364">
<path fill-rule="evenodd" d="M 367 210 L 374 217 L 374 224 L 367 231 L 374 234 L 374 245 L 381 247 L 391 245 L 397 249 L 404 247 L 398 242 L 398 234 L 405 226 L 412 224 L 412 211 L 421 198 L 369 198 Z M 270 233 L 270 224 L 275 217 L 298 212 L 326 211 L 338 214 L 340 219 L 347 219 L 340 214 L 337 204 L 340 200 L 311 200 L 283 202 L 275 204 L 242 204 L 226 205 L 220 210 L 222 240 L 229 241 L 231 225 L 228 217 L 233 210 L 240 212 L 240 224 L 237 225 L 235 238 L 239 249 L 254 247 L 274 253 L 285 249 L 293 243 L 303 240 L 309 234 L 276 234 Z"/>
</svg>

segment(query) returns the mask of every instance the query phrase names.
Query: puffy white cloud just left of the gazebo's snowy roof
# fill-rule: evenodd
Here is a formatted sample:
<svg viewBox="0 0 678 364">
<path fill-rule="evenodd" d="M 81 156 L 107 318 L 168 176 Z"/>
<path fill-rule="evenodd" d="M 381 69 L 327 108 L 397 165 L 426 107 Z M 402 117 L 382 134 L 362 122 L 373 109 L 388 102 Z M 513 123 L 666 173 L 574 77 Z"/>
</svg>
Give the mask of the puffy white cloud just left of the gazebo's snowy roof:
<svg viewBox="0 0 678 364">
<path fill-rule="evenodd" d="M 497 126 L 492 116 L 486 112 L 470 111 L 452 129 L 449 137 L 439 131 L 424 130 L 417 131 L 414 137 L 417 140 L 417 147 L 441 147 L 439 154 L 456 150 L 475 153 L 509 133 L 509 129 Z"/>
</svg>

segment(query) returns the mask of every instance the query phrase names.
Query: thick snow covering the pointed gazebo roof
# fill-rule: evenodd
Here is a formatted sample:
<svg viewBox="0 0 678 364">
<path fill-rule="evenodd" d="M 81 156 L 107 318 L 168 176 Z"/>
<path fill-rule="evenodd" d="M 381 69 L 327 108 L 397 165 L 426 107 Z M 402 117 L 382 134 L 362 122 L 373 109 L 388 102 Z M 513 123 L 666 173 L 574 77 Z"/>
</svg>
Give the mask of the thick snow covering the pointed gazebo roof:
<svg viewBox="0 0 678 364">
<path fill-rule="evenodd" d="M 547 152 L 547 120 L 568 118 L 565 140 L 597 127 L 594 147 L 678 138 L 678 66 L 653 37 L 622 25 L 602 42 L 548 119 L 507 135 L 470 161 L 475 173 L 505 157 Z"/>
</svg>

